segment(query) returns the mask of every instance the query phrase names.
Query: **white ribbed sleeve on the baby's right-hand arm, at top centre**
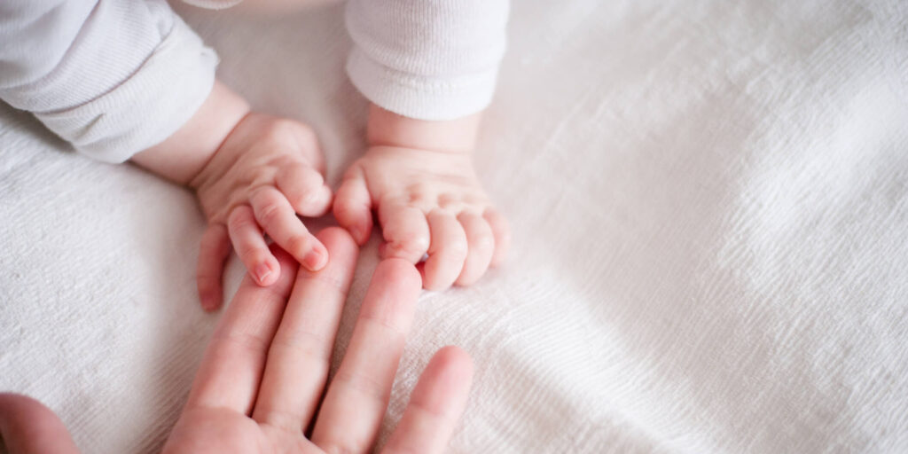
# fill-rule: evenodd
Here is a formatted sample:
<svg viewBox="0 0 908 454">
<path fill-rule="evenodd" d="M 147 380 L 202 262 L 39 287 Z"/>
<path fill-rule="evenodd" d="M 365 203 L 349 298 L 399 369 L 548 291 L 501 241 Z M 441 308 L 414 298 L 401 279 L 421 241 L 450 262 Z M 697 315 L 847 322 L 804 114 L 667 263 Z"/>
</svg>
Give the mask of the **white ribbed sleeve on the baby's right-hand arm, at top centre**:
<svg viewBox="0 0 908 454">
<path fill-rule="evenodd" d="M 508 0 L 350 0 L 350 81 L 374 104 L 420 120 L 486 108 L 505 51 Z"/>
</svg>

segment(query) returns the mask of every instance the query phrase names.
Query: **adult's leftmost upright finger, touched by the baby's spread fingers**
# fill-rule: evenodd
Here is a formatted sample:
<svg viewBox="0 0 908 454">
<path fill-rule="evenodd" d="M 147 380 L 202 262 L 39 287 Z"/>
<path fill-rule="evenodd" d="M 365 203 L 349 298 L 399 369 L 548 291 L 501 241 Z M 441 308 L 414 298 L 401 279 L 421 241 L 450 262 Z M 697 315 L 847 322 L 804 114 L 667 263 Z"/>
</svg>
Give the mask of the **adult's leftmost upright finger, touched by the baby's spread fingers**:
<svg viewBox="0 0 908 454">
<path fill-rule="evenodd" d="M 268 287 L 256 285 L 248 275 L 242 280 L 205 350 L 186 409 L 224 407 L 251 413 L 297 267 L 287 252 L 272 251 L 280 261 L 281 276 Z"/>
</svg>

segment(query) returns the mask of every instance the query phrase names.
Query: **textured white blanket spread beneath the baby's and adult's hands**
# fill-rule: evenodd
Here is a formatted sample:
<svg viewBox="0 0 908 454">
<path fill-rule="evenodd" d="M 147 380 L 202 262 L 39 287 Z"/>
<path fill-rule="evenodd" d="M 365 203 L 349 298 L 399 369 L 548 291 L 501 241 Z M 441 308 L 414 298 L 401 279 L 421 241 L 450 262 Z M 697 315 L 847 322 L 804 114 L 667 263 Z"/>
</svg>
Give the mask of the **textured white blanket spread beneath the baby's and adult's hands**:
<svg viewBox="0 0 908 454">
<path fill-rule="evenodd" d="M 908 451 L 905 4 L 513 9 L 477 153 L 513 254 L 422 297 L 382 433 L 453 343 L 477 376 L 451 452 Z M 227 84 L 313 124 L 337 182 L 366 112 L 342 7 L 230 11 L 185 17 Z M 152 452 L 217 320 L 194 289 L 202 216 L 26 114 L 0 122 L 0 389 L 85 452 Z"/>
</svg>

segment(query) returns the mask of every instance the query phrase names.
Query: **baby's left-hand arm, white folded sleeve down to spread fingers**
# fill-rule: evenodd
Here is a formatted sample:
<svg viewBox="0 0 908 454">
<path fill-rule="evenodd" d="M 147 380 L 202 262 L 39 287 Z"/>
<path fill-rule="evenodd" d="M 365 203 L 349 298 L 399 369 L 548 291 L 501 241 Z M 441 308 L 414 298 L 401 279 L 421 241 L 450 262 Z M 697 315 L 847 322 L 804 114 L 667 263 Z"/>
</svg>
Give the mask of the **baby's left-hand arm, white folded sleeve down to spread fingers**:
<svg viewBox="0 0 908 454">
<path fill-rule="evenodd" d="M 326 262 L 296 217 L 331 204 L 311 129 L 250 114 L 215 81 L 217 55 L 165 0 L 0 2 L 0 35 L 5 103 L 79 153 L 132 159 L 195 190 L 209 221 L 198 276 L 205 308 L 220 305 L 231 242 L 262 285 L 279 274 L 262 231 L 311 270 Z"/>
</svg>

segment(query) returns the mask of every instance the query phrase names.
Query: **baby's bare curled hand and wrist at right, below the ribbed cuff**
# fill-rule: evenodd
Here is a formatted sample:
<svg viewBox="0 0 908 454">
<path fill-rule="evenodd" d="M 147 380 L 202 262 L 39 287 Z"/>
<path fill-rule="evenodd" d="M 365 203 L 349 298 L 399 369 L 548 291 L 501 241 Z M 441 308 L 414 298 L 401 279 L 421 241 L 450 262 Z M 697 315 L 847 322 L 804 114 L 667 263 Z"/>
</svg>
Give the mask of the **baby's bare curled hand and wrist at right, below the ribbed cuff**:
<svg viewBox="0 0 908 454">
<path fill-rule="evenodd" d="M 478 118 L 467 122 L 475 127 Z M 382 258 L 416 263 L 428 253 L 419 270 L 429 290 L 472 284 L 508 248 L 508 224 L 479 184 L 471 125 L 463 123 L 373 107 L 372 146 L 350 166 L 334 201 L 334 216 L 360 244 L 369 239 L 371 210 L 378 212 Z"/>
</svg>

